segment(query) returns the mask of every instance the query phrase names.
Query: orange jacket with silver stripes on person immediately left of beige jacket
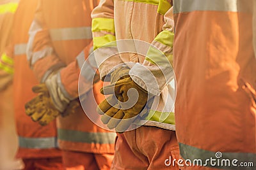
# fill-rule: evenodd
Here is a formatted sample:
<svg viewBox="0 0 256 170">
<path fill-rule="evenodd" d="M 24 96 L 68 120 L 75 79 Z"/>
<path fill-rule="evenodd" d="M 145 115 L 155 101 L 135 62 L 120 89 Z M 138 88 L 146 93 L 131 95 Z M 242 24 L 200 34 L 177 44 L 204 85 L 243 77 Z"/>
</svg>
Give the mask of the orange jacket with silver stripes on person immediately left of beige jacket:
<svg viewBox="0 0 256 170">
<path fill-rule="evenodd" d="M 96 5 L 95 0 L 42 0 L 29 31 L 28 60 L 38 80 L 44 82 L 52 71 L 64 66 L 58 85 L 70 100 L 78 97 L 80 69 L 92 46 L 90 13 Z M 97 114 L 92 87 L 87 91 L 84 102 Z M 74 115 L 58 117 L 58 141 L 63 150 L 113 153 L 115 136 L 93 124 L 81 107 Z"/>
</svg>

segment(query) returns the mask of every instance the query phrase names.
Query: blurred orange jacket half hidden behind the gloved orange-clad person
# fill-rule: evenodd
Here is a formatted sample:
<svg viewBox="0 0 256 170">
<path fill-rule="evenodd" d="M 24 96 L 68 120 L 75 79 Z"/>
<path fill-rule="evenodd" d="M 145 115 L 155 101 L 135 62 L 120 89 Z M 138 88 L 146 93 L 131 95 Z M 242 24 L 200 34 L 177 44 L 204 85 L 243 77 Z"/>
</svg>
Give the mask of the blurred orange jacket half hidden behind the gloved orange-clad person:
<svg viewBox="0 0 256 170">
<path fill-rule="evenodd" d="M 12 43 L 5 52 L 5 57 L 14 63 L 14 111 L 19 136 L 17 157 L 22 159 L 61 156 L 57 147 L 56 123 L 42 127 L 26 116 L 24 108 L 24 105 L 36 96 L 31 88 L 38 84 L 26 59 L 28 31 L 37 4 L 38 1 L 35 0 L 20 0 L 13 22 Z"/>
</svg>

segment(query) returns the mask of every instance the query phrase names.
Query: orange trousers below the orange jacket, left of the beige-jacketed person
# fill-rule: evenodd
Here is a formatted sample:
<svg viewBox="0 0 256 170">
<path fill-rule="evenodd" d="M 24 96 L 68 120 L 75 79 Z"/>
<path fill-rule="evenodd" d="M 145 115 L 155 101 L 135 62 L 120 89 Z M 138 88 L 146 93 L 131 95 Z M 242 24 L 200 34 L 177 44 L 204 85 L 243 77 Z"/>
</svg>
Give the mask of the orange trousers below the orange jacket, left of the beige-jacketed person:
<svg viewBox="0 0 256 170">
<path fill-rule="evenodd" d="M 109 170 L 114 155 L 111 153 L 86 153 L 63 151 L 66 170 Z"/>
</svg>

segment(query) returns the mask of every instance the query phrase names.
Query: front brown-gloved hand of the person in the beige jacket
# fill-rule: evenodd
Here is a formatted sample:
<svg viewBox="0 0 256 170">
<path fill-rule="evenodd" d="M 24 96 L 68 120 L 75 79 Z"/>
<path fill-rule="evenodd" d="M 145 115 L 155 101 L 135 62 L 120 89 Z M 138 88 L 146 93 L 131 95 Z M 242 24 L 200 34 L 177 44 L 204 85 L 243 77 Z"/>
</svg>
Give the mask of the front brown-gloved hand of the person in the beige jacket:
<svg viewBox="0 0 256 170">
<path fill-rule="evenodd" d="M 145 105 L 152 98 L 131 77 L 103 87 L 100 92 L 112 96 L 99 104 L 97 112 L 102 115 L 102 122 L 117 132 L 126 131 L 143 109 L 147 108 Z"/>
</svg>

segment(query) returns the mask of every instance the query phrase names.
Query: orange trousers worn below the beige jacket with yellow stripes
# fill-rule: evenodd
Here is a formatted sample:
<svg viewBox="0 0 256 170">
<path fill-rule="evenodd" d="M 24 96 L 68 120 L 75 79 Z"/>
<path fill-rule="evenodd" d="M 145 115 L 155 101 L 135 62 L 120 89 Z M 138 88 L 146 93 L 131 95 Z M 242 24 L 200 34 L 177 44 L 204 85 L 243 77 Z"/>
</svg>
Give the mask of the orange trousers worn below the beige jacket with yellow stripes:
<svg viewBox="0 0 256 170">
<path fill-rule="evenodd" d="M 179 145 L 175 131 L 141 126 L 118 134 L 113 170 L 179 170 Z M 171 164 L 170 164 L 171 162 Z"/>
</svg>

